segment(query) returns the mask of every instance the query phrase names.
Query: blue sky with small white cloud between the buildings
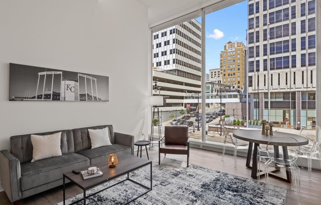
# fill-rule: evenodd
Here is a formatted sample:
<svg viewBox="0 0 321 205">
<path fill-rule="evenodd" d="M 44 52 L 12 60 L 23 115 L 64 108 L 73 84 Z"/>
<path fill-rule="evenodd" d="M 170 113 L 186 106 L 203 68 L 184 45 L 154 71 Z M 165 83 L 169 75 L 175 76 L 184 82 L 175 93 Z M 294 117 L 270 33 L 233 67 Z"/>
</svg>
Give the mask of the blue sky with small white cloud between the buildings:
<svg viewBox="0 0 321 205">
<path fill-rule="evenodd" d="M 209 69 L 220 68 L 220 53 L 228 41 L 246 45 L 247 6 L 247 1 L 243 1 L 205 16 L 206 73 Z M 196 20 L 201 22 L 200 18 Z"/>
</svg>

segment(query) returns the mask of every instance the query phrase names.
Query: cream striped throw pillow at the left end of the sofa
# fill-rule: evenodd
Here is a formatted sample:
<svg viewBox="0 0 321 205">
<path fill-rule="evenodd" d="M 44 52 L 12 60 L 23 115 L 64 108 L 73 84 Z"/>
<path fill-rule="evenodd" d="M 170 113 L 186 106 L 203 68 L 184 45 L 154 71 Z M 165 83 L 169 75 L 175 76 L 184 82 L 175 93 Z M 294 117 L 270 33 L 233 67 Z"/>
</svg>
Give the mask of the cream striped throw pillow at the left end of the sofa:
<svg viewBox="0 0 321 205">
<path fill-rule="evenodd" d="M 61 136 L 61 132 L 44 136 L 31 135 L 33 147 L 31 162 L 62 155 L 60 149 Z"/>
</svg>

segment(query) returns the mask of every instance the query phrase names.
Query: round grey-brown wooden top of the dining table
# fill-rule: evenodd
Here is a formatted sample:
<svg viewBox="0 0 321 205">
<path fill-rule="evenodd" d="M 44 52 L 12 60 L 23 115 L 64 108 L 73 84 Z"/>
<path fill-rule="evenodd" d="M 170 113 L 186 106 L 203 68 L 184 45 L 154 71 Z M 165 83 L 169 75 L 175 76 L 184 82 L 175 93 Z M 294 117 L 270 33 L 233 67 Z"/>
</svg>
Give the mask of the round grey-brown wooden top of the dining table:
<svg viewBox="0 0 321 205">
<path fill-rule="evenodd" d="M 258 144 L 267 144 L 267 142 L 273 137 L 293 137 L 299 143 L 299 145 L 306 145 L 309 143 L 309 139 L 306 137 L 298 136 L 291 133 L 273 132 L 273 136 L 265 136 L 261 134 L 261 130 L 235 130 L 233 131 L 233 137 L 249 141 Z M 277 146 L 295 146 L 296 144 L 289 143 L 288 141 L 278 141 Z"/>
</svg>

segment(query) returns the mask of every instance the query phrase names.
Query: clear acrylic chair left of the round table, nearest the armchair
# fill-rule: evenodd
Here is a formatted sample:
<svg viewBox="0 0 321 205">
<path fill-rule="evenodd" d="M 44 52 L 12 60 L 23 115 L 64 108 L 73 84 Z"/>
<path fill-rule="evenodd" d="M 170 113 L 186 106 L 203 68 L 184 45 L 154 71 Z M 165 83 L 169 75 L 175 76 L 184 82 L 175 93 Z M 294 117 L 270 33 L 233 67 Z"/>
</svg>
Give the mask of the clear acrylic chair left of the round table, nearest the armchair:
<svg viewBox="0 0 321 205">
<path fill-rule="evenodd" d="M 232 144 L 234 147 L 234 167 L 236 168 L 237 149 L 238 148 L 242 148 L 242 149 L 247 148 L 247 146 L 249 146 L 249 142 L 233 137 L 233 134 L 229 133 L 229 130 L 236 130 L 236 129 L 235 129 L 233 123 L 225 122 L 225 124 L 223 126 L 224 143 L 223 143 L 222 161 L 223 161 L 224 155 L 225 155 L 226 143 Z"/>
</svg>

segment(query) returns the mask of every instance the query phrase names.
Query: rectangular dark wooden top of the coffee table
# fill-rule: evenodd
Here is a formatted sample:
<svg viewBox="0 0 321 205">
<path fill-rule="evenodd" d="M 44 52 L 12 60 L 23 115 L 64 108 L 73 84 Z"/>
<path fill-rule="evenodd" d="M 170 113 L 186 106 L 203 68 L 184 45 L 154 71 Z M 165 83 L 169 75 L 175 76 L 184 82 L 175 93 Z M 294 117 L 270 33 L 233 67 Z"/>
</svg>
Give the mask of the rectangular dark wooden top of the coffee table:
<svg viewBox="0 0 321 205">
<path fill-rule="evenodd" d="M 64 176 L 70 181 L 74 182 L 83 190 L 90 189 L 104 182 L 110 181 L 111 179 L 122 176 L 130 171 L 137 170 L 141 167 L 144 167 L 148 164 L 152 164 L 152 161 L 147 159 L 138 158 L 133 155 L 123 155 L 119 156 L 118 165 L 114 168 L 110 168 L 106 163 L 101 163 L 97 165 L 90 165 L 84 168 L 79 169 L 79 171 L 87 171 L 89 167 L 97 167 L 102 171 L 102 176 L 96 176 L 89 179 L 83 179 L 81 173 L 75 174 L 71 170 L 64 173 Z"/>
</svg>

